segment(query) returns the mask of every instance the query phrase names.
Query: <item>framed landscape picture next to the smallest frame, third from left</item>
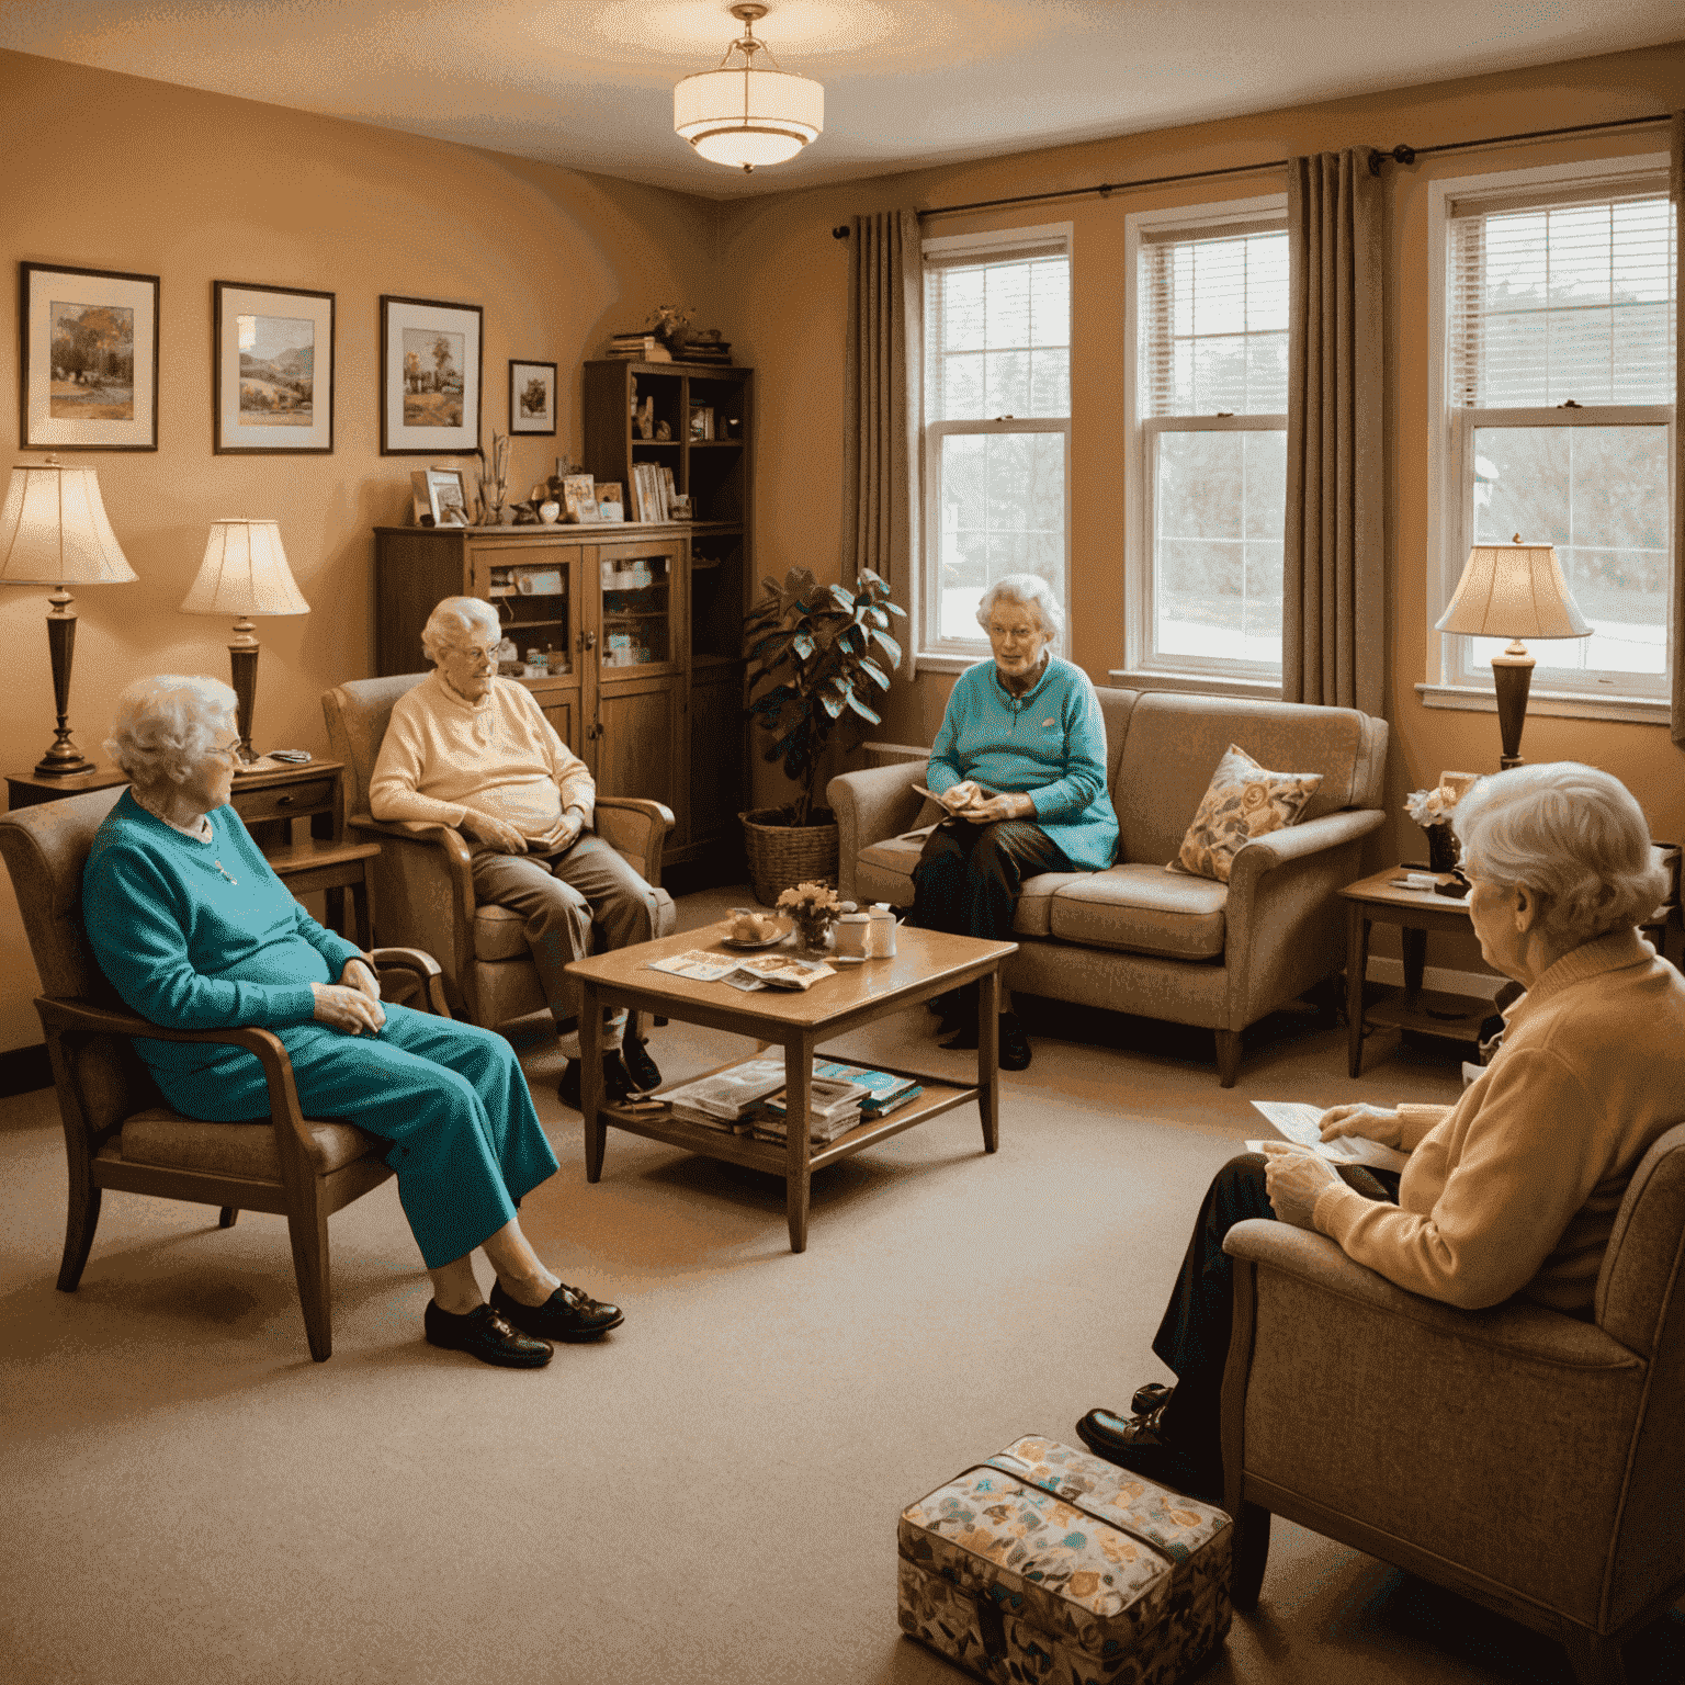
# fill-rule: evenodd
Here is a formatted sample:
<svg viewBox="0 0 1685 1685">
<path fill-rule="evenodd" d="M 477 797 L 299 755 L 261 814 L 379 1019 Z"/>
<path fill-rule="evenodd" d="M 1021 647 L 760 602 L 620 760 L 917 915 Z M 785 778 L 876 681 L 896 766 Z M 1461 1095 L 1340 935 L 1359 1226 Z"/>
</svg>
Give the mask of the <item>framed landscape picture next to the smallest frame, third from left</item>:
<svg viewBox="0 0 1685 1685">
<path fill-rule="evenodd" d="M 381 293 L 381 455 L 467 455 L 480 443 L 479 305 Z"/>
</svg>

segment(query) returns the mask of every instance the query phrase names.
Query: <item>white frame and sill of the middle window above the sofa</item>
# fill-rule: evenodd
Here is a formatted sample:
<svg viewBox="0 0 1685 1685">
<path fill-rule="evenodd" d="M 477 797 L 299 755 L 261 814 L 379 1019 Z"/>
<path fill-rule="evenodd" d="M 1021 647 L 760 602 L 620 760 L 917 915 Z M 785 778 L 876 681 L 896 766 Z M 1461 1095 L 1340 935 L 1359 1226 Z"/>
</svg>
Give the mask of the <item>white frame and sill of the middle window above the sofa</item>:
<svg viewBox="0 0 1685 1685">
<path fill-rule="evenodd" d="M 1158 433 L 1176 431 L 1279 431 L 1286 415 L 1257 416 L 1147 416 L 1141 415 L 1142 342 L 1141 310 L 1142 236 L 1166 229 L 1220 229 L 1228 224 L 1282 219 L 1287 195 L 1255 194 L 1178 206 L 1168 211 L 1132 211 L 1124 217 L 1124 666 L 1107 674 L 1114 684 L 1147 691 L 1200 691 L 1210 696 L 1279 698 L 1281 672 L 1259 674 L 1254 662 L 1200 655 L 1158 655 L 1153 649 L 1153 482 L 1147 465 Z"/>
</svg>

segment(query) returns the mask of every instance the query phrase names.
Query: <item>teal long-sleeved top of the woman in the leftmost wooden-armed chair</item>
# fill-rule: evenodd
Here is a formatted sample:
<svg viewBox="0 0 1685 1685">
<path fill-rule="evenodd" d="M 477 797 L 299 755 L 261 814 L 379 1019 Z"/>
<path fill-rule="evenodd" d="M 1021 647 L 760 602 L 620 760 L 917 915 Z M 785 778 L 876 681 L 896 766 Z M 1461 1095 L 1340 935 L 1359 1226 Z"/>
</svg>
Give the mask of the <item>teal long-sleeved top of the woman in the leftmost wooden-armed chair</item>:
<svg viewBox="0 0 1685 1685">
<path fill-rule="evenodd" d="M 83 918 L 99 969 L 142 1018 L 168 1030 L 315 1018 L 312 982 L 337 982 L 357 947 L 324 930 L 275 876 L 233 807 L 195 842 L 125 790 L 83 868 Z M 283 1035 L 285 1041 L 286 1036 Z M 135 1038 L 172 1105 L 251 1055 L 212 1043 Z"/>
</svg>

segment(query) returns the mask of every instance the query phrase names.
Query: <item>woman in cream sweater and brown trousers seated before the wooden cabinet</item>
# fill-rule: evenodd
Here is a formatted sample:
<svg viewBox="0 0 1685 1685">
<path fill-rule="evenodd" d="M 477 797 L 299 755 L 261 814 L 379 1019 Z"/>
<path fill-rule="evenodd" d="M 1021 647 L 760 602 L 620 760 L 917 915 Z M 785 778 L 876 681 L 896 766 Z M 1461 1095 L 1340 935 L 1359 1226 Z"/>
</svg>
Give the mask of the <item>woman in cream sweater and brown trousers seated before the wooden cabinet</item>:
<svg viewBox="0 0 1685 1685">
<path fill-rule="evenodd" d="M 393 708 L 369 780 L 376 819 L 452 826 L 473 854 L 473 893 L 526 920 L 526 942 L 568 1065 L 564 1105 L 580 1105 L 575 991 L 563 971 L 590 952 L 591 925 L 608 947 L 667 935 L 666 890 L 644 881 L 591 832 L 596 785 L 556 736 L 532 693 L 497 674 L 497 610 L 479 596 L 447 596 L 428 617 L 421 649 L 433 672 Z M 661 1072 L 613 1014 L 603 1038 L 612 1097 L 654 1089 Z"/>
</svg>

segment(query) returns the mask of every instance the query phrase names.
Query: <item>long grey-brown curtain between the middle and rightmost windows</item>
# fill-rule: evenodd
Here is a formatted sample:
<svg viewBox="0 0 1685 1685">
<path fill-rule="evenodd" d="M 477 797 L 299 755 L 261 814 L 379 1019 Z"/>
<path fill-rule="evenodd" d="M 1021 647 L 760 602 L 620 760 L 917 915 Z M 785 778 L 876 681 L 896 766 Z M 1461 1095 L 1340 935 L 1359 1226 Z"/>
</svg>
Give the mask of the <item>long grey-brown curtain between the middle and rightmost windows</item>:
<svg viewBox="0 0 1685 1685">
<path fill-rule="evenodd" d="M 1382 718 L 1382 197 L 1367 150 L 1287 165 L 1287 239 L 1281 694 Z"/>
</svg>

